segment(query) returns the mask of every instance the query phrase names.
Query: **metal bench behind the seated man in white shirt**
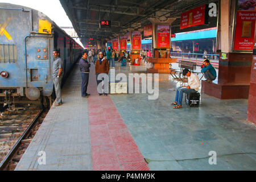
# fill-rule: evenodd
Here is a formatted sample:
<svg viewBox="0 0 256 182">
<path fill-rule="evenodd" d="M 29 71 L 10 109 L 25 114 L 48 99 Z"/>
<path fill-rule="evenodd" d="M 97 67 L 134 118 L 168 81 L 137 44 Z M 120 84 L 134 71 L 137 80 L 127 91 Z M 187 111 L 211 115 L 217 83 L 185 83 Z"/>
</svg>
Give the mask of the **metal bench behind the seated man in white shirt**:
<svg viewBox="0 0 256 182">
<path fill-rule="evenodd" d="M 187 78 L 185 78 L 183 75 L 181 77 L 181 73 L 183 72 L 183 69 L 187 68 L 189 71 L 191 71 L 192 73 L 196 73 L 197 76 L 199 75 L 199 73 L 201 72 L 195 72 L 196 70 L 196 63 L 195 62 L 189 62 L 189 61 L 179 61 L 179 68 L 180 70 L 177 71 L 175 69 L 171 69 L 171 76 L 178 81 L 182 81 L 182 82 L 187 82 Z M 172 73 L 174 72 L 174 73 Z M 176 73 L 179 75 L 179 77 L 176 76 Z M 201 73 L 202 76 L 199 80 L 201 80 L 204 76 L 204 73 Z"/>
</svg>

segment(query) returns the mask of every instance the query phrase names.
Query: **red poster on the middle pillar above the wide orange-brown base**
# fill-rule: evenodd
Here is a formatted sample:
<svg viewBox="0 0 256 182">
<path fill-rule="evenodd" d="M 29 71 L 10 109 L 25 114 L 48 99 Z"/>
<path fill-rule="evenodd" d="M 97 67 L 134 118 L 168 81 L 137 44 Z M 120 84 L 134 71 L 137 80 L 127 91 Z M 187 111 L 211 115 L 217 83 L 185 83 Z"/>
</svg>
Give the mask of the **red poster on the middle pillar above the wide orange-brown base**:
<svg viewBox="0 0 256 182">
<path fill-rule="evenodd" d="M 158 25 L 157 47 L 170 47 L 170 25 Z"/>
</svg>

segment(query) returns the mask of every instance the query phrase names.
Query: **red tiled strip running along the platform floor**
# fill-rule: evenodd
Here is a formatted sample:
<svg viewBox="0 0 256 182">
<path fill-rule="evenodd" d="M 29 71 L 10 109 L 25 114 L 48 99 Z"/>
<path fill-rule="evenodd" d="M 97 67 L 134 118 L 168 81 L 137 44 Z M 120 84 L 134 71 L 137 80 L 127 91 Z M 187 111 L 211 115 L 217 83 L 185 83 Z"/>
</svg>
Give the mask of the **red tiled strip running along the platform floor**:
<svg viewBox="0 0 256 182">
<path fill-rule="evenodd" d="M 149 170 L 110 96 L 98 96 L 94 66 L 88 93 L 93 170 Z"/>
</svg>

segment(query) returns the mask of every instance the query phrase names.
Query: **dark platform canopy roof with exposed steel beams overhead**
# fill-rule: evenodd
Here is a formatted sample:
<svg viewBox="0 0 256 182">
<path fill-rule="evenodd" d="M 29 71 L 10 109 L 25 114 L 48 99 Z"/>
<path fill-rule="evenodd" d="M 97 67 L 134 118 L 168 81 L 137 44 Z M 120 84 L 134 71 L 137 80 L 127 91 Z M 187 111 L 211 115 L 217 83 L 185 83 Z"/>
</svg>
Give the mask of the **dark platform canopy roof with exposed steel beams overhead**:
<svg viewBox="0 0 256 182">
<path fill-rule="evenodd" d="M 148 18 L 176 18 L 172 23 L 172 32 L 181 32 L 180 15 L 195 7 L 217 0 L 60 0 L 71 20 L 82 44 L 95 40 L 108 40 L 123 35 L 129 28 L 143 31 L 143 26 L 150 24 Z M 157 13 L 156 13 L 157 12 Z M 100 28 L 100 20 L 110 20 L 111 28 Z M 217 18 L 208 26 L 197 29 L 216 27 Z M 196 30 L 187 28 L 183 31 Z"/>
</svg>

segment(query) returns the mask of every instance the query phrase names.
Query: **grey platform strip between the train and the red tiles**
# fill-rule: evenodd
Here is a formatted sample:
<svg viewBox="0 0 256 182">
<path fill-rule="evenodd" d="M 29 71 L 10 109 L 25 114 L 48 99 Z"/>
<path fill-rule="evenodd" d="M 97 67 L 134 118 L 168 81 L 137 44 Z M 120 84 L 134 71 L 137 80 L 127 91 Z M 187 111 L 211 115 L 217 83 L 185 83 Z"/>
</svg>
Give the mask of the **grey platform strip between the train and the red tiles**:
<svg viewBox="0 0 256 182">
<path fill-rule="evenodd" d="M 62 89 L 63 105 L 49 110 L 15 170 L 91 170 L 88 102 L 81 97 L 81 75 L 73 69 Z M 46 164 L 39 164 L 39 152 Z"/>
</svg>

